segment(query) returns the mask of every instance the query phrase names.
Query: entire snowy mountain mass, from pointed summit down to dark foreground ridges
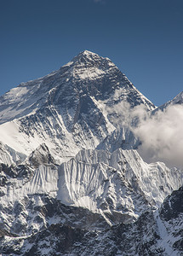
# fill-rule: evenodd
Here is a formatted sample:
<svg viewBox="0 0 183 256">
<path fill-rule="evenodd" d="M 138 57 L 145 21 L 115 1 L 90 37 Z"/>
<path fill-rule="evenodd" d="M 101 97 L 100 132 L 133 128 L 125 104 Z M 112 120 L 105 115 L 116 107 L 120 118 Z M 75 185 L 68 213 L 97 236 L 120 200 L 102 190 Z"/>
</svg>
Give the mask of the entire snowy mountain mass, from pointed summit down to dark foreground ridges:
<svg viewBox="0 0 183 256">
<path fill-rule="evenodd" d="M 140 109 L 87 50 L 0 97 L 0 253 L 180 255 L 183 172 L 140 157 Z"/>
</svg>

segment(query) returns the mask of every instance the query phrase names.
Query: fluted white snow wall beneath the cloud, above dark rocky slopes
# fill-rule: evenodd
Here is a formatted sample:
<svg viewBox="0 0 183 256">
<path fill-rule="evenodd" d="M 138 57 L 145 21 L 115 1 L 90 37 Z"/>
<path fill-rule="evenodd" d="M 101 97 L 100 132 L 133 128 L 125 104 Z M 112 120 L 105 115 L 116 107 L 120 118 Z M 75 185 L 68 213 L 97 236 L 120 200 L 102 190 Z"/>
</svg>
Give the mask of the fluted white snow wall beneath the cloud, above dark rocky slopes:
<svg viewBox="0 0 183 256">
<path fill-rule="evenodd" d="M 123 187 L 128 187 L 128 183 L 147 201 L 159 206 L 183 182 L 183 173 L 179 170 L 169 170 L 163 163 L 147 165 L 137 151 L 120 148 L 112 154 L 103 150 L 82 150 L 75 159 L 63 163 L 60 170 L 61 201 L 91 210 L 92 206 L 84 204 L 89 203 L 91 198 L 92 201 L 96 198 L 98 204 L 105 203 L 106 198 L 102 198 L 101 194 L 111 198 L 114 209 L 128 204 L 125 197 L 120 199 L 127 194 Z M 95 205 L 97 206 L 96 203 Z"/>
</svg>

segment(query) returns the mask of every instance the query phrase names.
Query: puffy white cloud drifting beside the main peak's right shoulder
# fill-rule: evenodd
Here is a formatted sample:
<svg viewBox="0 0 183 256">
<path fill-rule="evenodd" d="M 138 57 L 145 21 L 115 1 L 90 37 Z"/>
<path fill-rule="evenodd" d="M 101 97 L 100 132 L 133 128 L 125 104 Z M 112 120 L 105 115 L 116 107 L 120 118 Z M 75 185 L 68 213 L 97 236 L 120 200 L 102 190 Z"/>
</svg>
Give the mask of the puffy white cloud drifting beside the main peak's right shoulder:
<svg viewBox="0 0 183 256">
<path fill-rule="evenodd" d="M 140 124 L 134 134 L 142 142 L 141 156 L 149 162 L 161 160 L 169 166 L 183 167 L 183 106 L 171 105 L 146 119 L 143 111 L 138 115 Z"/>
</svg>

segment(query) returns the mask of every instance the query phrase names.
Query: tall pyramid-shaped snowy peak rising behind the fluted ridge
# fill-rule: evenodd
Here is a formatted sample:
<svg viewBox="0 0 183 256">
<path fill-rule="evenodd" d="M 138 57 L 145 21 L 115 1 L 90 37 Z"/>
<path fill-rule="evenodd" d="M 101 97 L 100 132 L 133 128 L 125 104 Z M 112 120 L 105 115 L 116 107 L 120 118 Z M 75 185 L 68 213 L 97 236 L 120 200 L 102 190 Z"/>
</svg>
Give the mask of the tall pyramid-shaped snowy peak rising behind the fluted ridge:
<svg viewBox="0 0 183 256">
<path fill-rule="evenodd" d="M 140 104 L 155 108 L 112 61 L 85 50 L 58 71 L 1 96 L 0 141 L 26 156 L 46 143 L 61 162 L 96 148 L 117 119 L 127 121 L 125 109 Z"/>
</svg>

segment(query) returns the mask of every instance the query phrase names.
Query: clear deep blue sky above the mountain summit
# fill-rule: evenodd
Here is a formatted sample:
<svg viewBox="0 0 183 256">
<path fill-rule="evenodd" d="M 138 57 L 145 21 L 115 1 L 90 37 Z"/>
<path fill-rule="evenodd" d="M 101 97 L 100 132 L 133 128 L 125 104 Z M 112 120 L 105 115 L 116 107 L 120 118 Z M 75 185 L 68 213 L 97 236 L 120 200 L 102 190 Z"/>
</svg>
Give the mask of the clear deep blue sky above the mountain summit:
<svg viewBox="0 0 183 256">
<path fill-rule="evenodd" d="M 159 106 L 183 90 L 183 1 L 0 0 L 0 95 L 84 49 Z"/>
</svg>

